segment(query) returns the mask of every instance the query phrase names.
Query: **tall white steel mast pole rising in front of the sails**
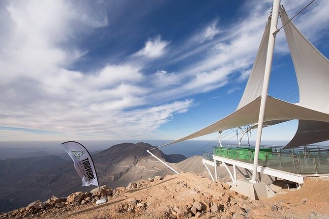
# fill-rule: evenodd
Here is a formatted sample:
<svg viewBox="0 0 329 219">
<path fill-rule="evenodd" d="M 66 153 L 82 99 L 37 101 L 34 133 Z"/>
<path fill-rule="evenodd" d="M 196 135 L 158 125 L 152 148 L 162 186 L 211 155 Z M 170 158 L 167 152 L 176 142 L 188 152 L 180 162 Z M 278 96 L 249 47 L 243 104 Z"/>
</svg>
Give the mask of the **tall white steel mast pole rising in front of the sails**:
<svg viewBox="0 0 329 219">
<path fill-rule="evenodd" d="M 268 88 L 269 88 L 269 76 L 270 76 L 273 53 L 274 53 L 275 34 L 273 35 L 272 33 L 275 32 L 277 27 L 277 21 L 279 18 L 279 8 L 280 8 L 280 0 L 273 0 L 272 18 L 271 18 L 271 25 L 269 30 L 269 44 L 268 44 L 268 51 L 266 56 L 261 106 L 259 109 L 259 117 L 258 117 L 258 125 L 257 125 L 254 165 L 252 171 L 252 179 L 250 180 L 250 182 L 252 183 L 257 182 L 256 175 L 257 175 L 257 166 L 258 166 L 258 155 L 259 155 L 259 148 L 261 145 L 265 105 L 266 105 L 266 99 L 268 96 Z"/>
</svg>

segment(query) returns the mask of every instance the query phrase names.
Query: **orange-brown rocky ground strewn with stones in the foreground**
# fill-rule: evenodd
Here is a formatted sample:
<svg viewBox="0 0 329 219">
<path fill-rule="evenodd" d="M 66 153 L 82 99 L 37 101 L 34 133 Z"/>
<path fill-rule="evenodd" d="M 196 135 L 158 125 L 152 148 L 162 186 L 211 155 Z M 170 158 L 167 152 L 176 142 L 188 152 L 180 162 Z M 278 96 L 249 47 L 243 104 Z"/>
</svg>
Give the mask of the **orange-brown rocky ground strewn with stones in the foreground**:
<svg viewBox="0 0 329 219">
<path fill-rule="evenodd" d="M 299 190 L 281 190 L 267 200 L 250 200 L 193 173 L 156 176 L 127 187 L 101 187 L 52 196 L 2 214 L 0 219 L 328 219 L 328 177 L 308 178 Z M 104 204 L 96 201 L 106 199 Z"/>
</svg>

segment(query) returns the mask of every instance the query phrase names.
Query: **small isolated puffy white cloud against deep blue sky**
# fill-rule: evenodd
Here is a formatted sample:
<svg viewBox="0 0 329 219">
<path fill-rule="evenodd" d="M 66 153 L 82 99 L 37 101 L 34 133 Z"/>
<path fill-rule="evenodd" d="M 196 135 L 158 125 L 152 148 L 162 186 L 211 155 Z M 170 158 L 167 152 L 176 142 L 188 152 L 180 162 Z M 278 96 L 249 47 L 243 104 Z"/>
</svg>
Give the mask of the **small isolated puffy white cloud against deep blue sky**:
<svg viewBox="0 0 329 219">
<path fill-rule="evenodd" d="M 158 35 L 149 39 L 145 43 L 145 47 L 135 53 L 137 56 L 146 56 L 148 58 L 158 58 L 166 53 L 166 48 L 169 45 L 168 41 L 161 41 L 161 36 Z"/>
</svg>

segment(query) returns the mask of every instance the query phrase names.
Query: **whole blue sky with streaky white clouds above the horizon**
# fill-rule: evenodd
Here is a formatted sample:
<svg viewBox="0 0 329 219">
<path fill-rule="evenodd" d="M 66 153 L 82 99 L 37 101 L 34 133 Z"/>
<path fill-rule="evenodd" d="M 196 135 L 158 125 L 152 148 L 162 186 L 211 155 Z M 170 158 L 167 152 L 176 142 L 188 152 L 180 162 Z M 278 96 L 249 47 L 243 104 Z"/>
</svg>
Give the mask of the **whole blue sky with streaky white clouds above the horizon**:
<svg viewBox="0 0 329 219">
<path fill-rule="evenodd" d="M 309 2 L 281 0 L 290 17 Z M 271 5 L 0 1 L 0 141 L 173 140 L 206 127 L 237 108 Z M 293 20 L 327 57 L 328 11 L 329 1 L 316 0 Z M 282 30 L 269 95 L 296 103 L 296 88 Z M 266 128 L 263 139 L 296 129 Z"/>
</svg>

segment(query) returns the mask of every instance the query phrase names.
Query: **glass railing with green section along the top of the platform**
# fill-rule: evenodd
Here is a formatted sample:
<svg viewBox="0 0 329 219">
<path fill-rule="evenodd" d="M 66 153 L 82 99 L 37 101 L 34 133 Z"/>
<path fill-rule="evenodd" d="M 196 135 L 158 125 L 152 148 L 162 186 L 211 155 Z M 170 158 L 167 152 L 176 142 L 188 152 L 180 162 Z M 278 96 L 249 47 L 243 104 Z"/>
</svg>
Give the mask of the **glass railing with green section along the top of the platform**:
<svg viewBox="0 0 329 219">
<path fill-rule="evenodd" d="M 329 154 L 326 151 L 312 153 L 273 152 L 272 148 L 260 148 L 258 165 L 297 174 L 329 173 Z M 213 147 L 213 152 L 204 152 L 203 158 L 212 161 L 212 155 L 252 164 L 254 148 L 252 147 Z"/>
</svg>

